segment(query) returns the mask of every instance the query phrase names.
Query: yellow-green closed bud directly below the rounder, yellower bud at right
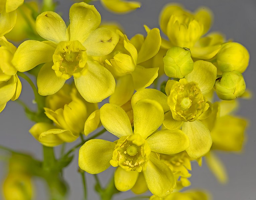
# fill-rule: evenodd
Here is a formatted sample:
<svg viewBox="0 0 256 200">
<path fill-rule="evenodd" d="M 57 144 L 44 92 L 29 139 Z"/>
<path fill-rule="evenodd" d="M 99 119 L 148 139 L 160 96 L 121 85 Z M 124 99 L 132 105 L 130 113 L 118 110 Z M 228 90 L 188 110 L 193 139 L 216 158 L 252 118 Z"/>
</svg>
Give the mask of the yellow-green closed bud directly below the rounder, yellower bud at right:
<svg viewBox="0 0 256 200">
<path fill-rule="evenodd" d="M 238 71 L 224 72 L 214 85 L 220 99 L 233 100 L 241 96 L 246 88 L 243 75 Z"/>
</svg>

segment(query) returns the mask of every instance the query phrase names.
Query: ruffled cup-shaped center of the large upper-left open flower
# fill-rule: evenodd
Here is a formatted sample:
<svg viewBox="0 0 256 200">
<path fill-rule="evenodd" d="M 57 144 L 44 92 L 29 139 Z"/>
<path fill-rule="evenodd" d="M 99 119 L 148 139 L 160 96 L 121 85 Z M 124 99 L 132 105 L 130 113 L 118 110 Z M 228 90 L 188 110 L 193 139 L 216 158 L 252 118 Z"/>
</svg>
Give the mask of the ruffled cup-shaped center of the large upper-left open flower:
<svg viewBox="0 0 256 200">
<path fill-rule="evenodd" d="M 87 62 L 86 48 L 79 41 L 62 41 L 53 54 L 53 66 L 57 76 L 69 79 L 81 75 Z"/>
</svg>

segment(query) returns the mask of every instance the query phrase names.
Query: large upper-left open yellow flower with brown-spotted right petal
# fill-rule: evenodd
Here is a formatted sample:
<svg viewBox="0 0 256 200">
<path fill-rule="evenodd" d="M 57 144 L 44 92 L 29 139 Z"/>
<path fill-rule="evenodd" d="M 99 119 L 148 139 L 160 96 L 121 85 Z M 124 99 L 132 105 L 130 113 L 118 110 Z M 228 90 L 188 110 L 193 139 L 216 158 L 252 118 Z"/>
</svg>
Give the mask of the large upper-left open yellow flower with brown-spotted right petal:
<svg viewBox="0 0 256 200">
<path fill-rule="evenodd" d="M 76 87 L 86 101 L 101 102 L 114 92 L 115 80 L 92 56 L 112 52 L 119 36 L 108 28 L 97 28 L 100 23 L 101 16 L 96 8 L 84 2 L 71 6 L 68 28 L 57 13 L 43 12 L 35 26 L 38 34 L 48 41 L 23 42 L 12 62 L 21 72 L 45 63 L 37 77 L 41 95 L 57 92 L 74 76 Z"/>
</svg>

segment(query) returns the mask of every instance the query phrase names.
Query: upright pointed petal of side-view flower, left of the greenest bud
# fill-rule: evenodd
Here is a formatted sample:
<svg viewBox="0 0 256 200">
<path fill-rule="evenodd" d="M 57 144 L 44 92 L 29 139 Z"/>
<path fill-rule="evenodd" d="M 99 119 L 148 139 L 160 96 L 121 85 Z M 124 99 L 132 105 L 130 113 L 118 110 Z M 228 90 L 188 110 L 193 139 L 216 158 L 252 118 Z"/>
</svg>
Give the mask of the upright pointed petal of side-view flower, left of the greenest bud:
<svg viewBox="0 0 256 200">
<path fill-rule="evenodd" d="M 161 46 L 161 36 L 158 28 L 153 28 L 148 32 L 142 46 L 138 52 L 137 64 L 152 58 Z"/>
</svg>

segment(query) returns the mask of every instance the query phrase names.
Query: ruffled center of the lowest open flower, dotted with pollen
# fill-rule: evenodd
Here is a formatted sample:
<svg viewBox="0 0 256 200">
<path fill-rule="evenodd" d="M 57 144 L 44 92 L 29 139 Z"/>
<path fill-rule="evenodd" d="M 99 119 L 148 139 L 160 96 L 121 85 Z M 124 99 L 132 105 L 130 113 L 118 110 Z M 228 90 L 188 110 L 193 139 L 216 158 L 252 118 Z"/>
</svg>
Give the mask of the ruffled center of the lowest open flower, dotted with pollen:
<svg viewBox="0 0 256 200">
<path fill-rule="evenodd" d="M 148 143 L 139 134 L 123 136 L 116 144 L 110 164 L 126 171 L 141 172 L 146 169 L 150 152 Z"/>
</svg>

